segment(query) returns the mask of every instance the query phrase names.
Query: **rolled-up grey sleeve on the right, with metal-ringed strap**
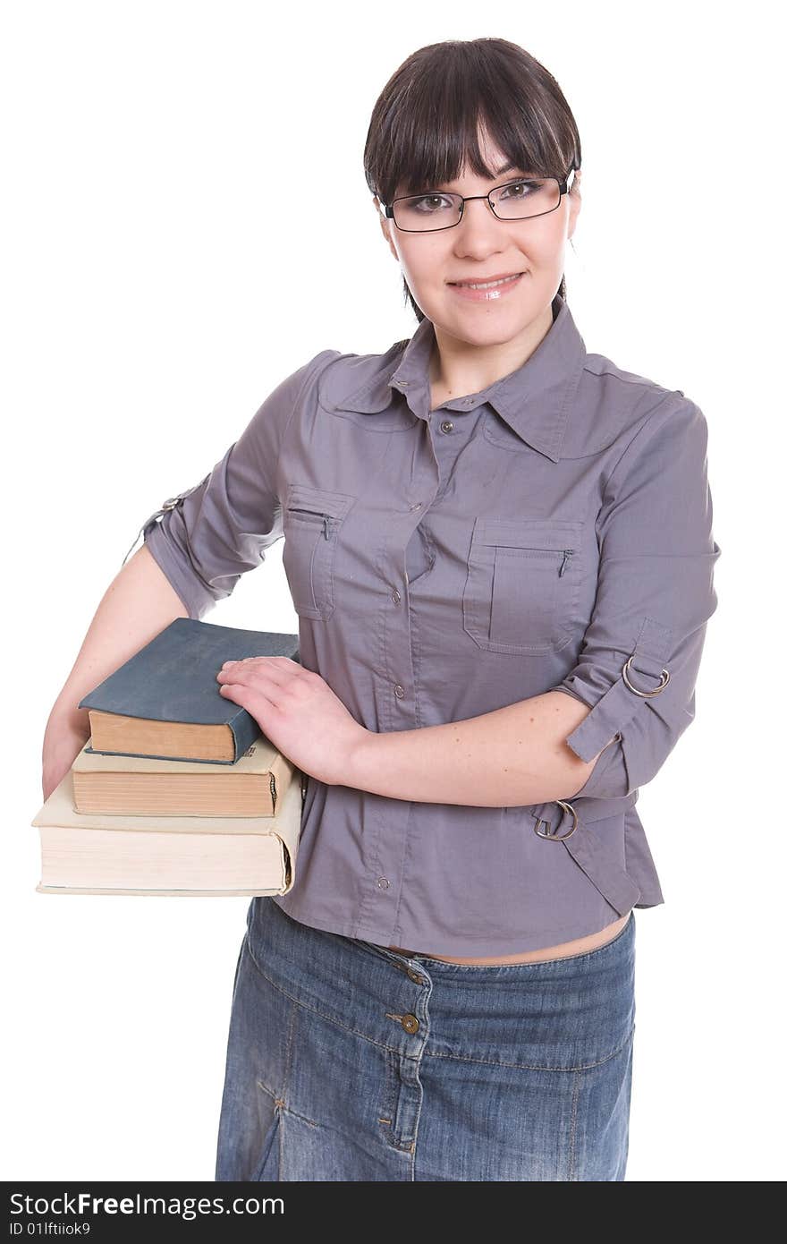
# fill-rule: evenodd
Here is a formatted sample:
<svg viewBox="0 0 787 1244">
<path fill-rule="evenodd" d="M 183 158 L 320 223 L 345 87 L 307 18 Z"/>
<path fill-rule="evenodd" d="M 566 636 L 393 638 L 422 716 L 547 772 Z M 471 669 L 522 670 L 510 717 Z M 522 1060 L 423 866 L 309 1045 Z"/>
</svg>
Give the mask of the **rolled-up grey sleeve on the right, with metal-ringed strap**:
<svg viewBox="0 0 787 1244">
<path fill-rule="evenodd" d="M 574 668 L 553 688 L 591 709 L 566 740 L 586 763 L 598 755 L 572 799 L 623 796 L 650 781 L 695 714 L 721 549 L 705 417 L 683 394 L 663 407 L 607 481 L 593 613 Z"/>
</svg>

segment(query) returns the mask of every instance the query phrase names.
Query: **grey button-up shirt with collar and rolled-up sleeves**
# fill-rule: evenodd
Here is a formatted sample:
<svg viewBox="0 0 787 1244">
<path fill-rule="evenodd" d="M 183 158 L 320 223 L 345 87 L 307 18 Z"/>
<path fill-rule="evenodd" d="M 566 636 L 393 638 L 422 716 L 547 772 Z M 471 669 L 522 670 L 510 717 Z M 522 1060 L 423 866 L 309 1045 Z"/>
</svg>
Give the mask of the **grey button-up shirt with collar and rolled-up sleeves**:
<svg viewBox="0 0 787 1244">
<path fill-rule="evenodd" d="M 716 608 L 707 427 L 683 392 L 588 353 L 559 295 L 552 310 L 521 367 L 435 411 L 428 318 L 383 355 L 323 350 L 143 525 L 194 618 L 283 536 L 301 661 L 368 730 L 552 689 L 591 708 L 567 743 L 603 751 L 562 804 L 310 776 L 296 883 L 275 898 L 306 924 L 491 957 L 664 901 L 634 805 L 694 718 Z"/>
</svg>

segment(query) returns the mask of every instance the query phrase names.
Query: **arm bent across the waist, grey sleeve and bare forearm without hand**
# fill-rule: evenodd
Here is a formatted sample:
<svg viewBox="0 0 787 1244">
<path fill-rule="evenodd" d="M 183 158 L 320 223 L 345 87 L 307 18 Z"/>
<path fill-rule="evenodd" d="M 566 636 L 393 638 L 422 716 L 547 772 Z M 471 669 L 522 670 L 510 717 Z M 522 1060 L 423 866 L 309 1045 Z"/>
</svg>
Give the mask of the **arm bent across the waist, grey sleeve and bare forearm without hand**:
<svg viewBox="0 0 787 1244">
<path fill-rule="evenodd" d="M 607 480 L 596 602 L 574 668 L 545 694 L 482 717 L 362 738 L 352 784 L 499 807 L 618 799 L 655 776 L 694 720 L 721 552 L 707 424 L 678 397 L 643 424 Z"/>
</svg>

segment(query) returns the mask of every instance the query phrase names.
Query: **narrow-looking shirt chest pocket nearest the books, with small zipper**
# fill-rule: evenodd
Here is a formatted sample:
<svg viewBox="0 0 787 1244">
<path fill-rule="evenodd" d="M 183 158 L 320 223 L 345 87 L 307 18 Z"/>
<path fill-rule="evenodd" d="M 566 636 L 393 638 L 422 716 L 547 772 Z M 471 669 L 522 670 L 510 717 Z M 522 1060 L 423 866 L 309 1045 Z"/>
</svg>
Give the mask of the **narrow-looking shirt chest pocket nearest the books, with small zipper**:
<svg viewBox="0 0 787 1244">
<path fill-rule="evenodd" d="M 333 569 L 339 530 L 356 498 L 291 484 L 283 506 L 282 562 L 296 613 L 327 620 L 336 607 Z"/>
</svg>

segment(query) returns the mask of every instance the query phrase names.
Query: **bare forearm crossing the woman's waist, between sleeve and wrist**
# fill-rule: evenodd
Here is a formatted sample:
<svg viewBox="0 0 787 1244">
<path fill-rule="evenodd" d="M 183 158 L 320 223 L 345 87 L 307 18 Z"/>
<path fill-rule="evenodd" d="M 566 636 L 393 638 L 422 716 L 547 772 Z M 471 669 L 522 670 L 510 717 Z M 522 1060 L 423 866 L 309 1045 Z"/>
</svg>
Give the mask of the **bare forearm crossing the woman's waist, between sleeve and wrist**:
<svg viewBox="0 0 787 1244">
<path fill-rule="evenodd" d="M 472 807 L 520 807 L 568 799 L 589 778 L 566 738 L 589 708 L 563 692 L 415 730 L 369 731 L 348 786 L 389 799 Z M 601 753 L 599 753 L 601 755 Z"/>
</svg>

